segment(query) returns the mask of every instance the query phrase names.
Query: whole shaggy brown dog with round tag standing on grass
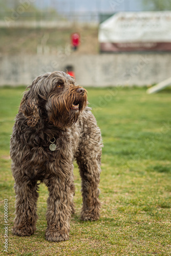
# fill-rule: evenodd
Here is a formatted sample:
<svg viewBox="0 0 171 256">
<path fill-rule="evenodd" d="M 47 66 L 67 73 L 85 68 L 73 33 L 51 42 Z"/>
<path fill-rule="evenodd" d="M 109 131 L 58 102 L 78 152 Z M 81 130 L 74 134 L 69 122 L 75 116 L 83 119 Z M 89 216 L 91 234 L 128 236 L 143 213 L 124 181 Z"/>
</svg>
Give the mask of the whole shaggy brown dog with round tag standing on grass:
<svg viewBox="0 0 171 256">
<path fill-rule="evenodd" d="M 36 230 L 38 184 L 49 189 L 46 239 L 69 239 L 74 212 L 73 160 L 82 179 L 82 220 L 99 218 L 101 134 L 87 105 L 87 92 L 66 73 L 55 71 L 28 87 L 11 137 L 16 217 L 13 233 L 31 236 Z"/>
</svg>

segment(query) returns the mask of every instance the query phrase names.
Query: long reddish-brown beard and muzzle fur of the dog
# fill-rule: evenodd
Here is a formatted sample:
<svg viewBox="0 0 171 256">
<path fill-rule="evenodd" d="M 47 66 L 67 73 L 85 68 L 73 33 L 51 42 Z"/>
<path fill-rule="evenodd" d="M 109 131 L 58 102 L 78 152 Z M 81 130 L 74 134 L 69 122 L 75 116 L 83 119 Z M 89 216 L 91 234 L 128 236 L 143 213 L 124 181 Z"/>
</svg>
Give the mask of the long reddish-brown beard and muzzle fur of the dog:
<svg viewBox="0 0 171 256">
<path fill-rule="evenodd" d="M 53 94 L 46 105 L 49 122 L 59 129 L 70 127 L 76 123 L 86 105 L 87 93 L 80 96 L 73 90 L 58 96 Z"/>
</svg>

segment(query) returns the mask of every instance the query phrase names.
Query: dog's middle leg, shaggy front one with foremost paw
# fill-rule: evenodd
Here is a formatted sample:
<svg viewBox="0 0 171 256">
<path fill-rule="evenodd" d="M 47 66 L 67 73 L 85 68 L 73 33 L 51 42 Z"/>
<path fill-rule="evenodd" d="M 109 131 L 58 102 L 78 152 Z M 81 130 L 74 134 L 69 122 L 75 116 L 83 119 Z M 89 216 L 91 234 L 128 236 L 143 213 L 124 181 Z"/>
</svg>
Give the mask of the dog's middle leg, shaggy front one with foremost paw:
<svg viewBox="0 0 171 256">
<path fill-rule="evenodd" d="M 60 242 L 69 239 L 72 212 L 73 177 L 60 172 L 61 176 L 51 177 L 47 183 L 49 189 L 46 239 Z"/>
</svg>

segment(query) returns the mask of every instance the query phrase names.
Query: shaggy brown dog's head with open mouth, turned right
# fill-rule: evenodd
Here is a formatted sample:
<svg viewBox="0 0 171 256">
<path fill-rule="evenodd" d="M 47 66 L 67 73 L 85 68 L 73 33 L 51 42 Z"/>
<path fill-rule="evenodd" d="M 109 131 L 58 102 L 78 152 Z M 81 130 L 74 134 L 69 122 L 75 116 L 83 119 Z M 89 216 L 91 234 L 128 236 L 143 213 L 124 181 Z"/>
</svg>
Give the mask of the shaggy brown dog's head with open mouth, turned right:
<svg viewBox="0 0 171 256">
<path fill-rule="evenodd" d="M 71 126 L 87 105 L 87 91 L 61 71 L 38 76 L 27 89 L 19 110 L 31 127 L 40 119 L 59 128 Z"/>
</svg>

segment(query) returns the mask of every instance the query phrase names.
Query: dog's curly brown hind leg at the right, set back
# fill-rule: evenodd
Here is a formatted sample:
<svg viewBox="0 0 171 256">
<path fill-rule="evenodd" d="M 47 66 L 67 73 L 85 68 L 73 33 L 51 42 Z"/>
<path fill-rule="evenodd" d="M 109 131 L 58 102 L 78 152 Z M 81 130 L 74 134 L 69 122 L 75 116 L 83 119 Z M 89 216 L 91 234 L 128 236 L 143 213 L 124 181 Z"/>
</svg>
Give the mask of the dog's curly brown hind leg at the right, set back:
<svg viewBox="0 0 171 256">
<path fill-rule="evenodd" d="M 92 127 L 95 127 L 93 124 Z M 98 220 L 100 201 L 98 184 L 100 181 L 101 134 L 98 127 L 94 131 L 82 135 L 79 152 L 76 154 L 82 180 L 82 220 Z"/>
</svg>

